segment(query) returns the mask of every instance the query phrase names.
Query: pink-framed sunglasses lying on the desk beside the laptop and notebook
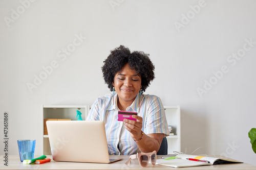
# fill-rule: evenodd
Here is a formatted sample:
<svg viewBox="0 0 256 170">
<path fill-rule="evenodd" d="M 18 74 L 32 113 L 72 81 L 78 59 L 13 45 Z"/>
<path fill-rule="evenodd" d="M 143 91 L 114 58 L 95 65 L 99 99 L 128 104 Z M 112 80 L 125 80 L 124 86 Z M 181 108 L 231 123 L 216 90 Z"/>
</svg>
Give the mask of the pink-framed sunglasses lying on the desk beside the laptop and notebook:
<svg viewBox="0 0 256 170">
<path fill-rule="evenodd" d="M 138 158 L 140 166 L 142 167 L 146 167 L 148 165 L 148 162 L 150 162 L 150 159 L 152 165 L 155 165 L 157 162 L 157 152 L 153 151 L 151 153 L 137 153 L 135 155 L 131 155 L 125 164 L 127 165 L 129 162 L 131 163 L 131 159 L 136 158 Z"/>
</svg>

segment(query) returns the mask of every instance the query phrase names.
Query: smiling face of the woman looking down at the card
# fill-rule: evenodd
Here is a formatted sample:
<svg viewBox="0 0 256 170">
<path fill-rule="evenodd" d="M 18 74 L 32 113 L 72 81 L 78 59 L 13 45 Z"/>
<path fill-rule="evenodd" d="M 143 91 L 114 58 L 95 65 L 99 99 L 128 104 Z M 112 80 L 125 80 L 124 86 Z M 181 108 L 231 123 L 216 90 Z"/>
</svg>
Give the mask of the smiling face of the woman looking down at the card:
<svg viewBox="0 0 256 170">
<path fill-rule="evenodd" d="M 141 77 L 135 70 L 132 70 L 127 63 L 123 66 L 122 70 L 115 75 L 113 86 L 118 94 L 118 104 L 122 105 L 120 107 L 125 106 L 126 108 L 133 103 L 140 91 Z"/>
</svg>

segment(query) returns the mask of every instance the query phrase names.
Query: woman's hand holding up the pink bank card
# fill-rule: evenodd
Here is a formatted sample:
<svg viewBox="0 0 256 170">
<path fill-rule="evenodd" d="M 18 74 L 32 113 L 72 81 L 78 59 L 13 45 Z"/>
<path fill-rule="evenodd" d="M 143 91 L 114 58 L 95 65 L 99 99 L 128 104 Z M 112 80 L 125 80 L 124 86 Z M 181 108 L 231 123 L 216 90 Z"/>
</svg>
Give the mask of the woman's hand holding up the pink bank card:
<svg viewBox="0 0 256 170">
<path fill-rule="evenodd" d="M 141 129 L 143 118 L 138 115 L 133 115 L 133 118 L 136 118 L 137 121 L 124 119 L 124 127 L 127 129 L 127 131 L 131 133 L 132 138 L 134 138 L 135 140 L 139 140 L 142 136 Z"/>
</svg>

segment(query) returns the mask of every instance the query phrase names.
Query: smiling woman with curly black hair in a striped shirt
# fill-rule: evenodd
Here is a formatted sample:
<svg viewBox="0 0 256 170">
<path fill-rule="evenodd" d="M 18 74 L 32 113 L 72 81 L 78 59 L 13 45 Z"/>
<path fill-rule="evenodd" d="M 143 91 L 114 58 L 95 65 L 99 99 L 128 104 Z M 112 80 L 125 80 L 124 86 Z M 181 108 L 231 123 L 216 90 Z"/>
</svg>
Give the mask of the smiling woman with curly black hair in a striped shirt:
<svg viewBox="0 0 256 170">
<path fill-rule="evenodd" d="M 97 99 L 87 120 L 104 121 L 110 155 L 158 151 L 169 135 L 160 98 L 143 94 L 155 78 L 154 69 L 147 54 L 122 45 L 104 61 L 103 77 L 113 94 Z M 137 120 L 118 121 L 118 110 L 137 112 Z"/>
</svg>

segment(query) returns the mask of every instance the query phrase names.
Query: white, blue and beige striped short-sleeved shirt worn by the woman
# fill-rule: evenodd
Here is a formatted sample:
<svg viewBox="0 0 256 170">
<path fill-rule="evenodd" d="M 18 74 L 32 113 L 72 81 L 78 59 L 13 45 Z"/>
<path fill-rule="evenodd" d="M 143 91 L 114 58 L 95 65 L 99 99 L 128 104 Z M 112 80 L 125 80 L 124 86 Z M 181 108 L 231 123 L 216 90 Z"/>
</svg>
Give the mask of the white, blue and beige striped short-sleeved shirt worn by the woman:
<svg viewBox="0 0 256 170">
<path fill-rule="evenodd" d="M 113 99 L 115 99 L 113 105 Z M 136 142 L 124 127 L 123 122 L 118 121 L 117 93 L 98 98 L 89 112 L 87 120 L 103 120 L 105 123 L 106 140 L 108 142 L 109 155 L 132 155 L 139 153 Z M 142 131 L 145 134 L 163 133 L 169 135 L 163 104 L 156 95 L 142 94 L 139 105 L 139 94 L 126 111 L 137 112 L 143 118 Z"/>
</svg>

